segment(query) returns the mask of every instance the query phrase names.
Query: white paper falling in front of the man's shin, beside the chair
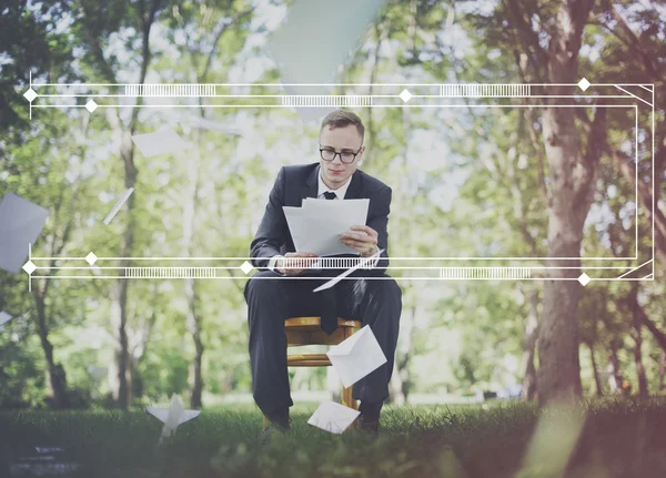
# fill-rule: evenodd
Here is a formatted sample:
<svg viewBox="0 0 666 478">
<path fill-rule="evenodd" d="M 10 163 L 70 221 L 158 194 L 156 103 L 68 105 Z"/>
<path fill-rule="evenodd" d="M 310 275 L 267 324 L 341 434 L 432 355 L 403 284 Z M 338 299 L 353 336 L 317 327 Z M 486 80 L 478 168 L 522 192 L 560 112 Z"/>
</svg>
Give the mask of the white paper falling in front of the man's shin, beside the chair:
<svg viewBox="0 0 666 478">
<path fill-rule="evenodd" d="M 386 363 L 386 356 L 370 325 L 331 347 L 326 355 L 345 388 Z"/>
</svg>

